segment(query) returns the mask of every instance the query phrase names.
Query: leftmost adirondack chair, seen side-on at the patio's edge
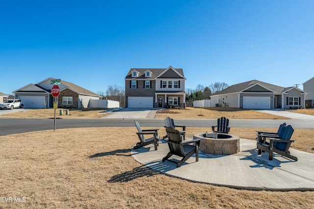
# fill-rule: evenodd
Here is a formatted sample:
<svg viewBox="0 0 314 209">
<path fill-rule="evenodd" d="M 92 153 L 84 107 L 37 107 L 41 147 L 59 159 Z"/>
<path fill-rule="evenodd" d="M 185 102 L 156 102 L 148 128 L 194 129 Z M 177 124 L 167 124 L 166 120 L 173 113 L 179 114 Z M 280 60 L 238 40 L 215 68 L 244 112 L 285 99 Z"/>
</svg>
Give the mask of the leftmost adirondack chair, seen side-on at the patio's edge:
<svg viewBox="0 0 314 209">
<path fill-rule="evenodd" d="M 139 123 L 134 120 L 135 122 L 135 126 L 137 128 L 137 136 L 140 140 L 140 142 L 137 142 L 136 145 L 133 147 L 133 149 L 138 149 L 140 147 L 146 146 L 148 144 L 152 144 L 154 143 L 155 145 L 155 150 L 157 150 L 157 146 L 158 146 L 158 141 L 159 141 L 159 136 L 158 136 L 158 129 L 146 129 L 146 130 L 142 130 L 141 126 L 139 125 Z M 145 139 L 144 135 L 151 135 L 153 137 Z"/>
</svg>

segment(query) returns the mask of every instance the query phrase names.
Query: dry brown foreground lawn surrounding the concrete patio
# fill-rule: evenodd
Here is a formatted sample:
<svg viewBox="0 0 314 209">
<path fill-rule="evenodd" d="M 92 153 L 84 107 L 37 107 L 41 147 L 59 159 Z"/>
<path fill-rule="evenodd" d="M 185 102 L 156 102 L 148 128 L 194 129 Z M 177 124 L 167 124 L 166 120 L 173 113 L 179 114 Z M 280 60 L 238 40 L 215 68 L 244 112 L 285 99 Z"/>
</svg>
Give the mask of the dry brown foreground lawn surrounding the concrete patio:
<svg viewBox="0 0 314 209">
<path fill-rule="evenodd" d="M 163 127 L 152 128 L 165 134 Z M 254 139 L 256 130 L 233 128 L 231 134 Z M 186 135 L 204 131 L 188 128 Z M 154 172 L 131 157 L 135 132 L 79 128 L 0 137 L 0 196 L 25 200 L 0 201 L 0 208 L 314 208 L 313 191 L 238 190 Z M 292 146 L 311 152 L 313 135 L 296 129 Z"/>
</svg>

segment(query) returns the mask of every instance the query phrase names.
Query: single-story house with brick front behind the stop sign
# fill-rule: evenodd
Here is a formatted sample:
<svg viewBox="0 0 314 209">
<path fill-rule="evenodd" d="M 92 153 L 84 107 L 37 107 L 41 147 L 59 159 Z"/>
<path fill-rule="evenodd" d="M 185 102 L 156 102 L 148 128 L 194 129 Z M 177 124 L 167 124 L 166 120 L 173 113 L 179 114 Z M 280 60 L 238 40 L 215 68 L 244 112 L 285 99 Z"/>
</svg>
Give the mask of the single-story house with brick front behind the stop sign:
<svg viewBox="0 0 314 209">
<path fill-rule="evenodd" d="M 15 98 L 24 102 L 25 108 L 52 108 L 51 80 L 47 78 L 37 84 L 28 84 L 14 91 Z M 90 99 L 101 99 L 102 96 L 84 89 L 76 84 L 61 81 L 58 107 L 61 108 L 87 108 Z"/>
</svg>

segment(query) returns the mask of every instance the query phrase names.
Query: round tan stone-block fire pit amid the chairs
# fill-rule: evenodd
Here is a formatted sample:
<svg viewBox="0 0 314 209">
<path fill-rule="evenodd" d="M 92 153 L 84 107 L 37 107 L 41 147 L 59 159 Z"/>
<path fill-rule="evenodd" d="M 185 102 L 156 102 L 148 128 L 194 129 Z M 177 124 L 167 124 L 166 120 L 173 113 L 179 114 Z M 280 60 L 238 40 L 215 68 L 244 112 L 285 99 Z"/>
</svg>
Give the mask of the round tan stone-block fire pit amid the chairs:
<svg viewBox="0 0 314 209">
<path fill-rule="evenodd" d="M 193 139 L 200 138 L 199 150 L 216 155 L 231 155 L 240 152 L 240 138 L 229 134 L 201 133 L 194 134 Z"/>
</svg>

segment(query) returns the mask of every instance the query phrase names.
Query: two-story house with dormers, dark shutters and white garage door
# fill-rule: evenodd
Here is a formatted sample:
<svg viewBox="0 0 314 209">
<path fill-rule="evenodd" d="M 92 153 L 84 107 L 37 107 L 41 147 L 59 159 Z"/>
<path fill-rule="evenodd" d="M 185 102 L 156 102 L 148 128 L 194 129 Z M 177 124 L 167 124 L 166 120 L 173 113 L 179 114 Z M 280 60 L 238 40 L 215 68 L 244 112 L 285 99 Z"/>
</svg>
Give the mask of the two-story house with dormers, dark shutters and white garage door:
<svg viewBox="0 0 314 209">
<path fill-rule="evenodd" d="M 125 107 L 185 108 L 185 80 L 182 69 L 132 68 L 125 78 Z"/>
</svg>

